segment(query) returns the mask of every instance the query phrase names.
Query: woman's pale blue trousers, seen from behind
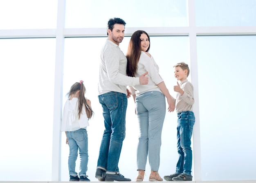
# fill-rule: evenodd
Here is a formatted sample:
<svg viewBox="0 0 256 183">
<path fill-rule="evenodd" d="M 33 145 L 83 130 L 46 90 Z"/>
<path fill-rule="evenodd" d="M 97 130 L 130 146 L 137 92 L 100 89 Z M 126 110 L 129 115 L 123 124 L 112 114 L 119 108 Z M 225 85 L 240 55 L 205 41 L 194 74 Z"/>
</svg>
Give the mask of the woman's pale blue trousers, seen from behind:
<svg viewBox="0 0 256 183">
<path fill-rule="evenodd" d="M 135 98 L 139 122 L 137 168 L 145 170 L 147 156 L 152 171 L 160 163 L 161 135 L 166 113 L 165 96 L 158 91 L 145 92 Z"/>
</svg>

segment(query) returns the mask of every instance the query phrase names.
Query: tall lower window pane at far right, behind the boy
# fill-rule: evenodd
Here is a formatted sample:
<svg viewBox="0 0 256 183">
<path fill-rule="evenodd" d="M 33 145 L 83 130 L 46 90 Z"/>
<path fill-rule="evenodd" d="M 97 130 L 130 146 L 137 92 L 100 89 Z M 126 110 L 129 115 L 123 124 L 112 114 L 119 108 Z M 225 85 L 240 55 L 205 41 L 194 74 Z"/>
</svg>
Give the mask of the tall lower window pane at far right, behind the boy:
<svg viewBox="0 0 256 183">
<path fill-rule="evenodd" d="M 198 37 L 204 180 L 255 179 L 255 47 L 256 36 Z"/>
</svg>

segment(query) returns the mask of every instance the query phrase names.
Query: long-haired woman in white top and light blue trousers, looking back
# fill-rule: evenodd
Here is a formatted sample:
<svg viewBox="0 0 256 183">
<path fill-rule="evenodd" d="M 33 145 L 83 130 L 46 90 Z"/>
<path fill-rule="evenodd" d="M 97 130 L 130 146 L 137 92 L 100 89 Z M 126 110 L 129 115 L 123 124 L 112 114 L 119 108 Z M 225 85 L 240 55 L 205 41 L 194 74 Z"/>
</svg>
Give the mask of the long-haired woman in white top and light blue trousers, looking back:
<svg viewBox="0 0 256 183">
<path fill-rule="evenodd" d="M 162 127 L 166 113 L 173 112 L 175 105 L 164 80 L 159 75 L 159 67 L 148 53 L 150 39 L 148 33 L 138 30 L 132 34 L 127 52 L 127 75 L 139 77 L 148 71 L 148 85 L 130 87 L 135 101 L 139 122 L 139 143 L 137 147 L 137 171 L 135 181 L 143 181 L 147 156 L 151 173 L 149 181 L 163 181 L 158 174 Z"/>
</svg>

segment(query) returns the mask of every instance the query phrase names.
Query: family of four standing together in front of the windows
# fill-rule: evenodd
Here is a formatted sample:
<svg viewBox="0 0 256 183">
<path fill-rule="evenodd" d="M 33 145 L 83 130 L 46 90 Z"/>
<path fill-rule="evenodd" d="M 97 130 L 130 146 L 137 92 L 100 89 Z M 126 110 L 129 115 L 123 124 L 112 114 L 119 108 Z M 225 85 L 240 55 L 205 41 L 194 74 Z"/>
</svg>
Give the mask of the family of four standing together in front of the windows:
<svg viewBox="0 0 256 183">
<path fill-rule="evenodd" d="M 174 65 L 177 92 L 173 98 L 150 49 L 150 37 L 146 31 L 132 34 L 127 54 L 124 55 L 119 43 L 124 39 L 126 22 L 121 18 L 108 21 L 107 35 L 101 50 L 99 68 L 98 98 L 102 105 L 105 130 L 99 149 L 95 177 L 99 181 L 131 181 L 119 172 L 118 162 L 126 135 L 126 108 L 128 98 L 133 97 L 135 113 L 139 123 L 137 145 L 137 176 L 143 181 L 147 158 L 150 165 L 149 181 L 163 181 L 158 173 L 160 162 L 161 136 L 166 114 L 177 112 L 177 152 L 179 159 L 174 174 L 164 176 L 166 181 L 192 181 L 191 136 L 195 116 L 193 114 L 193 85 L 187 80 L 189 66 L 180 62 Z M 86 127 L 94 114 L 91 101 L 85 98 L 83 81 L 70 88 L 69 99 L 63 109 L 61 131 L 66 133 L 70 147 L 68 168 L 70 181 L 90 181 L 87 172 L 88 136 Z M 75 161 L 81 158 L 80 172 L 75 172 Z"/>
</svg>

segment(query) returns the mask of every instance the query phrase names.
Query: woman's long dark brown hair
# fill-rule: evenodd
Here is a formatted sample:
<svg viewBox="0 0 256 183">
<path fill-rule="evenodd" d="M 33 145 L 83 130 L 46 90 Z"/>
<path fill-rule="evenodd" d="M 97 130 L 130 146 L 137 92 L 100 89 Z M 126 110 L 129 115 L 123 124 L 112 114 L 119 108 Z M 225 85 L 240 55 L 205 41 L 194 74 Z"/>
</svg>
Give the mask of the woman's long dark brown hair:
<svg viewBox="0 0 256 183">
<path fill-rule="evenodd" d="M 145 33 L 148 36 L 148 33 L 146 33 L 146 31 L 138 30 L 132 34 L 132 37 L 130 39 L 130 42 L 128 45 L 128 51 L 126 54 L 126 58 L 127 58 L 126 74 L 127 74 L 127 76 L 135 77 L 135 73 L 137 71 L 137 65 L 139 62 L 139 57 L 141 54 L 140 36 L 143 33 Z M 148 36 L 148 41 L 150 42 L 149 36 Z M 150 48 L 150 45 L 148 46 L 148 49 L 146 51 L 148 51 L 149 48 Z"/>
</svg>

